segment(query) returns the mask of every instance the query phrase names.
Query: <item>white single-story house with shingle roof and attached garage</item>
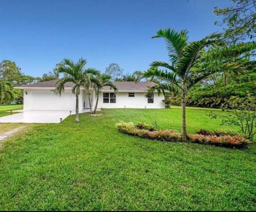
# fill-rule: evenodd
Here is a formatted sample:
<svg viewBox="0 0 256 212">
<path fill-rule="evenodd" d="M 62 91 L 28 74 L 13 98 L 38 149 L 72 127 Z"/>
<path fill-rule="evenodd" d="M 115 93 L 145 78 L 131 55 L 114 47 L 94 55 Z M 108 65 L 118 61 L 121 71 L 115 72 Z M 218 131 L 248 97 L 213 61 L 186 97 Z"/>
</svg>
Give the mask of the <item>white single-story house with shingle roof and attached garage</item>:
<svg viewBox="0 0 256 212">
<path fill-rule="evenodd" d="M 75 110 L 75 95 L 71 93 L 72 83 L 65 84 L 65 91 L 61 96 L 54 94 L 57 80 L 50 80 L 16 87 L 24 90 L 23 110 Z M 145 90 L 152 86 L 152 82 L 114 82 L 118 92 L 114 94 L 113 89 L 104 87 L 100 93 L 98 108 L 165 108 L 162 101 L 163 94 L 158 96 L 154 93 L 152 98 L 145 97 Z M 90 91 L 92 108 L 95 106 L 96 94 Z M 89 108 L 87 92 L 80 88 L 79 112 Z"/>
</svg>

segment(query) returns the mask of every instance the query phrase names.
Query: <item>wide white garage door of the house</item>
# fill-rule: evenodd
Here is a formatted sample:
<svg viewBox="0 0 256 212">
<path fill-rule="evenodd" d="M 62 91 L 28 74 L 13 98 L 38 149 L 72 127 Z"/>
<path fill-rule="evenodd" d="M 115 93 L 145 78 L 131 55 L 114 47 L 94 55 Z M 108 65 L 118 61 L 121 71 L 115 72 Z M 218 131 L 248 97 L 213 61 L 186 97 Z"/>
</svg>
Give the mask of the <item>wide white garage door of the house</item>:
<svg viewBox="0 0 256 212">
<path fill-rule="evenodd" d="M 75 110 L 75 98 L 71 92 L 58 97 L 53 92 L 34 91 L 31 110 Z"/>
</svg>

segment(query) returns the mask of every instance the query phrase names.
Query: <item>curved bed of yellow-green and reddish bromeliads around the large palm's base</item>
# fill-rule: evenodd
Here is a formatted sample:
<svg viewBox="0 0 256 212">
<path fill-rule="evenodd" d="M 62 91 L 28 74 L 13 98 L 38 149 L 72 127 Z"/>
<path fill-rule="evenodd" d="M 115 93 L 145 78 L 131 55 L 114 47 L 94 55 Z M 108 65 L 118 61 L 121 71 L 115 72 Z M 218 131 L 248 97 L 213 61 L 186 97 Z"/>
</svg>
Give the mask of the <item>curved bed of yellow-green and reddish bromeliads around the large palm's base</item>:
<svg viewBox="0 0 256 212">
<path fill-rule="evenodd" d="M 151 140 L 183 142 L 181 133 L 176 130 L 152 130 L 149 126 L 150 125 L 144 123 L 134 125 L 132 122 L 125 123 L 123 121 L 116 124 L 118 131 L 121 133 L 141 138 L 148 138 Z M 228 148 L 243 148 L 251 143 L 248 139 L 236 135 L 230 130 L 208 131 L 200 129 L 197 131 L 197 134 L 187 134 L 187 137 L 188 142 L 191 143 L 208 144 Z"/>
</svg>

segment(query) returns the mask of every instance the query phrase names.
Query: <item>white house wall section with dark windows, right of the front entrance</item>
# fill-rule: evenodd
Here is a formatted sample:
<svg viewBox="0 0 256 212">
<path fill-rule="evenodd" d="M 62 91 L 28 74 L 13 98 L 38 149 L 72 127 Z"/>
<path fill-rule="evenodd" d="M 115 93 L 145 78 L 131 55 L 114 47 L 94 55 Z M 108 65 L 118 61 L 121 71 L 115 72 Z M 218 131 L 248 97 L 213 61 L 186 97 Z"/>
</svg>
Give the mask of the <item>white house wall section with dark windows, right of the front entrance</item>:
<svg viewBox="0 0 256 212">
<path fill-rule="evenodd" d="M 148 103 L 148 98 L 145 97 L 145 92 L 118 92 L 116 94 L 116 103 L 103 103 L 103 93 L 99 95 L 98 108 L 165 108 L 164 95 L 158 96 L 154 93 L 154 103 Z M 112 91 L 113 92 L 113 91 Z M 129 97 L 128 93 L 135 93 L 135 97 Z"/>
</svg>

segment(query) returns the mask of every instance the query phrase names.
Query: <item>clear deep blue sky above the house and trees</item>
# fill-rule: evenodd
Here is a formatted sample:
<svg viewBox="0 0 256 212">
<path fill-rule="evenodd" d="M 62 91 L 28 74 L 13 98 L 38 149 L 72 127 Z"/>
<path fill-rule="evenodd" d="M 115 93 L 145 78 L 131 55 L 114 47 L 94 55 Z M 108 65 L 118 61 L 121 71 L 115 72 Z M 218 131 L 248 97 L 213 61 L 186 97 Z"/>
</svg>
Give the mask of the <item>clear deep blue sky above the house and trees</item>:
<svg viewBox="0 0 256 212">
<path fill-rule="evenodd" d="M 26 75 L 42 76 L 63 58 L 87 59 L 104 72 L 124 73 L 168 61 L 158 29 L 189 30 L 189 41 L 222 31 L 214 6 L 228 0 L 0 0 L 0 61 L 12 60 Z"/>
</svg>

